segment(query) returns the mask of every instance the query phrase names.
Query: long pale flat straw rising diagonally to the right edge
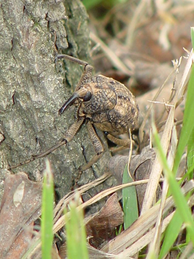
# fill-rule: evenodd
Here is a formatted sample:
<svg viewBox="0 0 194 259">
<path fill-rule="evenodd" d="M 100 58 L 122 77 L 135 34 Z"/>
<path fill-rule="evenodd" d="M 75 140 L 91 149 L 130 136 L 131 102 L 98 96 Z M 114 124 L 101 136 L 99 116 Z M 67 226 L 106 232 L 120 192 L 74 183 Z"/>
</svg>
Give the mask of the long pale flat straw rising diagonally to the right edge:
<svg viewBox="0 0 194 259">
<path fill-rule="evenodd" d="M 193 56 L 193 53 L 190 53 L 190 56 Z M 188 66 L 188 63 L 190 64 L 190 66 Z M 177 89 L 175 90 L 175 95 L 174 95 L 174 98 L 171 103 L 172 105 L 176 104 L 178 94 L 180 93 L 183 85 L 185 84 L 184 80 L 186 80 L 186 77 L 187 77 L 186 75 L 188 75 L 188 73 L 190 71 L 191 64 L 192 64 L 192 62 L 190 62 L 190 57 L 189 57 L 188 62 L 185 66 L 185 67 L 187 67 L 188 70 L 184 70 L 184 72 L 183 72 L 181 83 L 178 85 Z M 174 111 L 175 111 L 174 107 L 170 107 L 170 111 L 168 113 L 165 128 L 164 128 L 164 131 L 163 131 L 163 134 L 161 137 L 161 144 L 162 144 L 163 152 L 165 153 L 165 155 L 167 154 L 167 150 L 168 150 L 168 146 L 169 146 L 169 142 L 170 142 L 171 131 L 172 131 L 173 124 L 174 124 Z M 149 179 L 149 182 L 148 182 L 148 185 L 146 188 L 141 214 L 143 214 L 146 210 L 148 210 L 148 208 L 150 208 L 152 205 L 154 193 L 158 186 L 158 181 L 159 181 L 159 178 L 161 175 L 161 171 L 162 171 L 162 165 L 160 163 L 160 158 L 158 155 L 156 155 L 154 164 L 152 167 L 152 171 L 150 174 L 150 179 Z"/>
</svg>

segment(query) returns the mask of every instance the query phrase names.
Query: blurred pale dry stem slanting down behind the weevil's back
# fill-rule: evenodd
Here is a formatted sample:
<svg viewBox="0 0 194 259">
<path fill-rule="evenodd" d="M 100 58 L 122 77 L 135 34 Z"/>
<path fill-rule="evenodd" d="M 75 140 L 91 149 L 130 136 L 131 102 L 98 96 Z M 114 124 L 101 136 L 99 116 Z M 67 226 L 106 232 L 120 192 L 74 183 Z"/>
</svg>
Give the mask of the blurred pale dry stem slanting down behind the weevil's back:
<svg viewBox="0 0 194 259">
<path fill-rule="evenodd" d="M 90 32 L 90 37 L 91 39 L 99 43 L 102 50 L 105 52 L 105 54 L 108 56 L 108 58 L 111 60 L 111 62 L 114 64 L 114 66 L 118 69 L 121 70 L 124 74 L 128 76 L 133 75 L 133 70 L 134 70 L 134 64 L 131 63 L 131 70 L 129 70 L 125 64 L 115 55 L 113 51 L 111 51 L 110 48 L 107 47 L 107 45 L 104 44 L 103 41 L 101 41 L 94 33 Z"/>
</svg>

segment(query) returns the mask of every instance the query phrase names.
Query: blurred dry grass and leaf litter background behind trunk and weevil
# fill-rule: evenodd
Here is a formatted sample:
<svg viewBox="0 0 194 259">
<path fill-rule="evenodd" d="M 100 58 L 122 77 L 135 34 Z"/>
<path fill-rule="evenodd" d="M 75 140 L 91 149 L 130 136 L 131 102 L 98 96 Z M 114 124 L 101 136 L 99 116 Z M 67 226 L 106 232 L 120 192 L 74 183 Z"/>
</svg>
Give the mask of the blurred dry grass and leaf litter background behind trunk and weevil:
<svg viewBox="0 0 194 259">
<path fill-rule="evenodd" d="M 191 49 L 193 0 L 84 0 L 96 73 L 137 96 L 158 87 L 171 60 Z M 161 73 L 162 71 L 162 73 Z"/>
</svg>

